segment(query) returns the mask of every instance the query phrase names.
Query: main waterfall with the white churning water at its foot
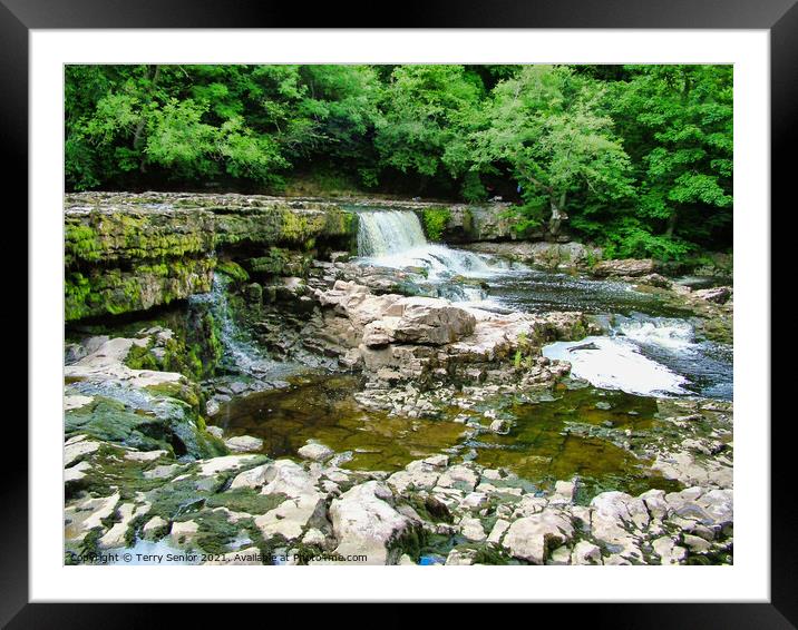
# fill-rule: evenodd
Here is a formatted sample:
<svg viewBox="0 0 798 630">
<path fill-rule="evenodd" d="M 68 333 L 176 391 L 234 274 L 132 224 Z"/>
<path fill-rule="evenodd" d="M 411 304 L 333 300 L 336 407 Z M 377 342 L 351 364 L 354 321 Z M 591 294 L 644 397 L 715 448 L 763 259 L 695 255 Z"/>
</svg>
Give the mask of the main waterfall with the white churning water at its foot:
<svg viewBox="0 0 798 630">
<path fill-rule="evenodd" d="M 358 218 L 358 256 L 366 264 L 396 269 L 421 267 L 430 279 L 489 277 L 507 268 L 471 252 L 428 243 L 416 213 L 368 210 L 359 213 Z"/>
</svg>

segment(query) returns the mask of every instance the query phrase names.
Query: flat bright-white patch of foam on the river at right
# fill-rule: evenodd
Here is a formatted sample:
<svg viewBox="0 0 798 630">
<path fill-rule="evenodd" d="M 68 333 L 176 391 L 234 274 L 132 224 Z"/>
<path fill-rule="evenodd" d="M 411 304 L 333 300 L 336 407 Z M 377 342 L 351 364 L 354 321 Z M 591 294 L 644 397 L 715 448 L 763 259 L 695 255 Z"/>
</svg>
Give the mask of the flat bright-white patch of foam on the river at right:
<svg viewBox="0 0 798 630">
<path fill-rule="evenodd" d="M 592 344 L 595 350 L 573 350 Z M 643 396 L 687 394 L 687 378 L 671 372 L 638 351 L 623 337 L 586 337 L 578 342 L 556 342 L 543 347 L 543 355 L 571 363 L 571 374 L 596 387 L 621 390 Z"/>
</svg>

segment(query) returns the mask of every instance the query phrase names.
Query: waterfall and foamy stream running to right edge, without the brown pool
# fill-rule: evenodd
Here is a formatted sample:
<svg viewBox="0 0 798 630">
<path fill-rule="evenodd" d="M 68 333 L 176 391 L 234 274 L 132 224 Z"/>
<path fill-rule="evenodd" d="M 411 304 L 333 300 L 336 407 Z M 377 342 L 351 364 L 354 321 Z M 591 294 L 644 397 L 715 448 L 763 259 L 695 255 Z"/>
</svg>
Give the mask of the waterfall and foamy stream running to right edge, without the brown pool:
<svg viewBox="0 0 798 630">
<path fill-rule="evenodd" d="M 364 265 L 415 267 L 439 283 L 480 278 L 476 289 L 446 295 L 489 311 L 581 311 L 605 321 L 605 336 L 544 348 L 546 356 L 571 362 L 574 375 L 597 387 L 652 396 L 732 397 L 731 347 L 695 341 L 690 313 L 654 294 L 622 282 L 510 266 L 427 243 L 418 216 L 409 210 L 361 210 L 358 216 Z M 577 350 L 585 344 L 592 347 Z"/>
</svg>

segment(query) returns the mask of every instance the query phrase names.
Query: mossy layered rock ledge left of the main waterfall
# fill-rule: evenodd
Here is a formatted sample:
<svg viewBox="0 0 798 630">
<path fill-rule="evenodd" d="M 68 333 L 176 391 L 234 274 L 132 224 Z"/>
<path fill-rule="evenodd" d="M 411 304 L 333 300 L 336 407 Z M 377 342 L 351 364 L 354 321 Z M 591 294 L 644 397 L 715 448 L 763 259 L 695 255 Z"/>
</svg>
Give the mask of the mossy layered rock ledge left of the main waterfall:
<svg viewBox="0 0 798 630">
<path fill-rule="evenodd" d="M 216 258 L 298 275 L 350 249 L 353 215 L 333 204 L 241 195 L 67 195 L 66 318 L 146 311 L 211 289 Z"/>
</svg>

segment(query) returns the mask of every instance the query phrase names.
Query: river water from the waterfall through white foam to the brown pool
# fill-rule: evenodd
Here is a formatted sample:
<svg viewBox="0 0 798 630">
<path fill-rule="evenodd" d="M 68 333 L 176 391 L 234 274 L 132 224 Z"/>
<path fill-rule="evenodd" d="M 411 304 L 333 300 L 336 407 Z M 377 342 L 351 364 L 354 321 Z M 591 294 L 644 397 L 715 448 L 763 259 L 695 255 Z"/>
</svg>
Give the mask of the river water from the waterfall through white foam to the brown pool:
<svg viewBox="0 0 798 630">
<path fill-rule="evenodd" d="M 362 385 L 358 377 L 309 374 L 288 378 L 289 387 L 223 405 L 214 421 L 227 433 L 263 439 L 263 452 L 275 457 L 295 456 L 308 440 L 318 440 L 339 453 L 340 465 L 352 469 L 391 472 L 448 452 L 507 467 L 541 485 L 576 475 L 587 499 L 606 489 L 675 489 L 650 462 L 590 427 L 649 430 L 659 422 L 658 396 L 731 400 L 731 347 L 697 338 L 689 316 L 627 284 L 531 269 L 427 243 L 411 211 L 364 210 L 359 218 L 362 265 L 422 270 L 425 282 L 440 284 L 478 279 L 479 288 L 460 299 L 494 311 L 583 311 L 597 317 L 606 334 L 543 348 L 551 358 L 568 361 L 572 375 L 590 386 L 559 387 L 536 402 L 513 403 L 506 410 L 514 417 L 507 435 L 474 436 L 458 422 L 456 408 L 439 420 L 374 413 L 354 400 Z"/>
</svg>

